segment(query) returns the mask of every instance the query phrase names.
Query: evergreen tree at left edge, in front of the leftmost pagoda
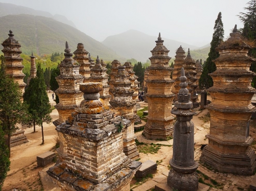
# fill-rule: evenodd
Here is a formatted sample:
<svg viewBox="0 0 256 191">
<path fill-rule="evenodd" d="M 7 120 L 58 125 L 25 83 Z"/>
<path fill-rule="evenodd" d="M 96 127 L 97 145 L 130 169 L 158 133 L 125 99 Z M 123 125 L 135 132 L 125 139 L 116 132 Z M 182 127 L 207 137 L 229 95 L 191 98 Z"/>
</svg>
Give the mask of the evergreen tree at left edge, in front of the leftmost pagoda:
<svg viewBox="0 0 256 191">
<path fill-rule="evenodd" d="M 20 123 L 26 123 L 27 107 L 21 103 L 22 92 L 14 78 L 6 74 L 2 60 L 0 68 L 0 122 L 2 130 L 8 135 L 9 155 L 11 153 L 11 134 Z"/>
</svg>

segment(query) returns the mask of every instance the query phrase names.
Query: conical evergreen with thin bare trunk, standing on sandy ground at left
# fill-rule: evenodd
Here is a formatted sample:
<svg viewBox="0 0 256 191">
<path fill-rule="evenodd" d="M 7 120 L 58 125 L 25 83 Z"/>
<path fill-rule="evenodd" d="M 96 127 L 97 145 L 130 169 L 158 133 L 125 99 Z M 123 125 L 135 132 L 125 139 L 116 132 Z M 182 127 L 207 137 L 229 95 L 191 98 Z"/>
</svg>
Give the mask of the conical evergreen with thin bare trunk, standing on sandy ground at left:
<svg viewBox="0 0 256 191">
<path fill-rule="evenodd" d="M 37 68 L 37 77 L 32 80 L 31 86 L 27 90 L 30 90 L 28 94 L 24 94 L 24 102 L 29 104 L 29 112 L 33 115 L 35 124 L 40 125 L 42 128 L 42 144 L 44 144 L 44 130 L 43 122 L 50 123 L 52 118 L 50 113 L 52 112 L 49 103 L 49 98 L 46 91 L 46 85 L 44 82 L 44 74 L 41 64 Z"/>
</svg>

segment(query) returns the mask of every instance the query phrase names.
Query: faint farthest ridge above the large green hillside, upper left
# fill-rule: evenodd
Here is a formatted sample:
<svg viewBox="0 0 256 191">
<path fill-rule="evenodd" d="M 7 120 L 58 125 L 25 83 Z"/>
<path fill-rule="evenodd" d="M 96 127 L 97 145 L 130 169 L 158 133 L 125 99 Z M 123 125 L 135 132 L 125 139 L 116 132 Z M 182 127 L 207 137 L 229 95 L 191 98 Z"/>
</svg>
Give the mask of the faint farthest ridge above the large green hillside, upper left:
<svg viewBox="0 0 256 191">
<path fill-rule="evenodd" d="M 52 15 L 47 11 L 39 11 L 34 10 L 29 7 L 19 6 L 19 5 L 13 5 L 10 3 L 2 3 L 0 2 L 0 17 L 6 16 L 6 15 L 19 15 L 19 14 L 28 14 L 28 15 L 36 15 L 36 16 L 44 16 L 44 17 L 50 17 L 53 18 L 56 21 L 62 22 L 64 24 L 70 25 L 74 28 L 76 28 L 76 25 L 68 20 L 63 15 Z"/>
</svg>

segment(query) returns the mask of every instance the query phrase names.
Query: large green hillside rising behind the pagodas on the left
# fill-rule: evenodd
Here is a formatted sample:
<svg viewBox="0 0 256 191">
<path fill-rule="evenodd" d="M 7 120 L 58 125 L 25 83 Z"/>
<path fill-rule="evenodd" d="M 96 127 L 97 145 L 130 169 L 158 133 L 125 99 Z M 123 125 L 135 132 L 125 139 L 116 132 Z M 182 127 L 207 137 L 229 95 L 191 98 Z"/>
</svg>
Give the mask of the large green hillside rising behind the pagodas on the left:
<svg viewBox="0 0 256 191">
<path fill-rule="evenodd" d="M 72 26 L 48 17 L 25 14 L 7 15 L 0 17 L 0 26 L 0 43 L 9 37 L 9 30 L 12 30 L 14 38 L 21 44 L 21 51 L 25 54 L 31 54 L 32 51 L 37 52 L 38 55 L 64 53 L 65 43 L 68 41 L 72 52 L 77 49 L 77 43 L 81 42 L 93 57 L 98 55 L 109 61 L 125 60 L 101 42 Z M 0 49 L 3 49 L 1 45 Z"/>
</svg>

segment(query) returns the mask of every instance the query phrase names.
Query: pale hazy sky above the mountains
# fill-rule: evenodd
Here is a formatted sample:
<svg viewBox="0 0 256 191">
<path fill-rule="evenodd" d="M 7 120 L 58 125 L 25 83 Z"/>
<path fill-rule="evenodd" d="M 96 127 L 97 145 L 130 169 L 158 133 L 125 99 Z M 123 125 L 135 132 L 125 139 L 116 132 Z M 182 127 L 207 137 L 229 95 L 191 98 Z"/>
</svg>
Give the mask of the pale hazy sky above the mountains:
<svg viewBox="0 0 256 191">
<path fill-rule="evenodd" d="M 0 0 L 60 14 L 77 29 L 103 41 L 130 29 L 148 35 L 204 46 L 211 42 L 214 22 L 222 12 L 226 38 L 249 0 Z"/>
</svg>

